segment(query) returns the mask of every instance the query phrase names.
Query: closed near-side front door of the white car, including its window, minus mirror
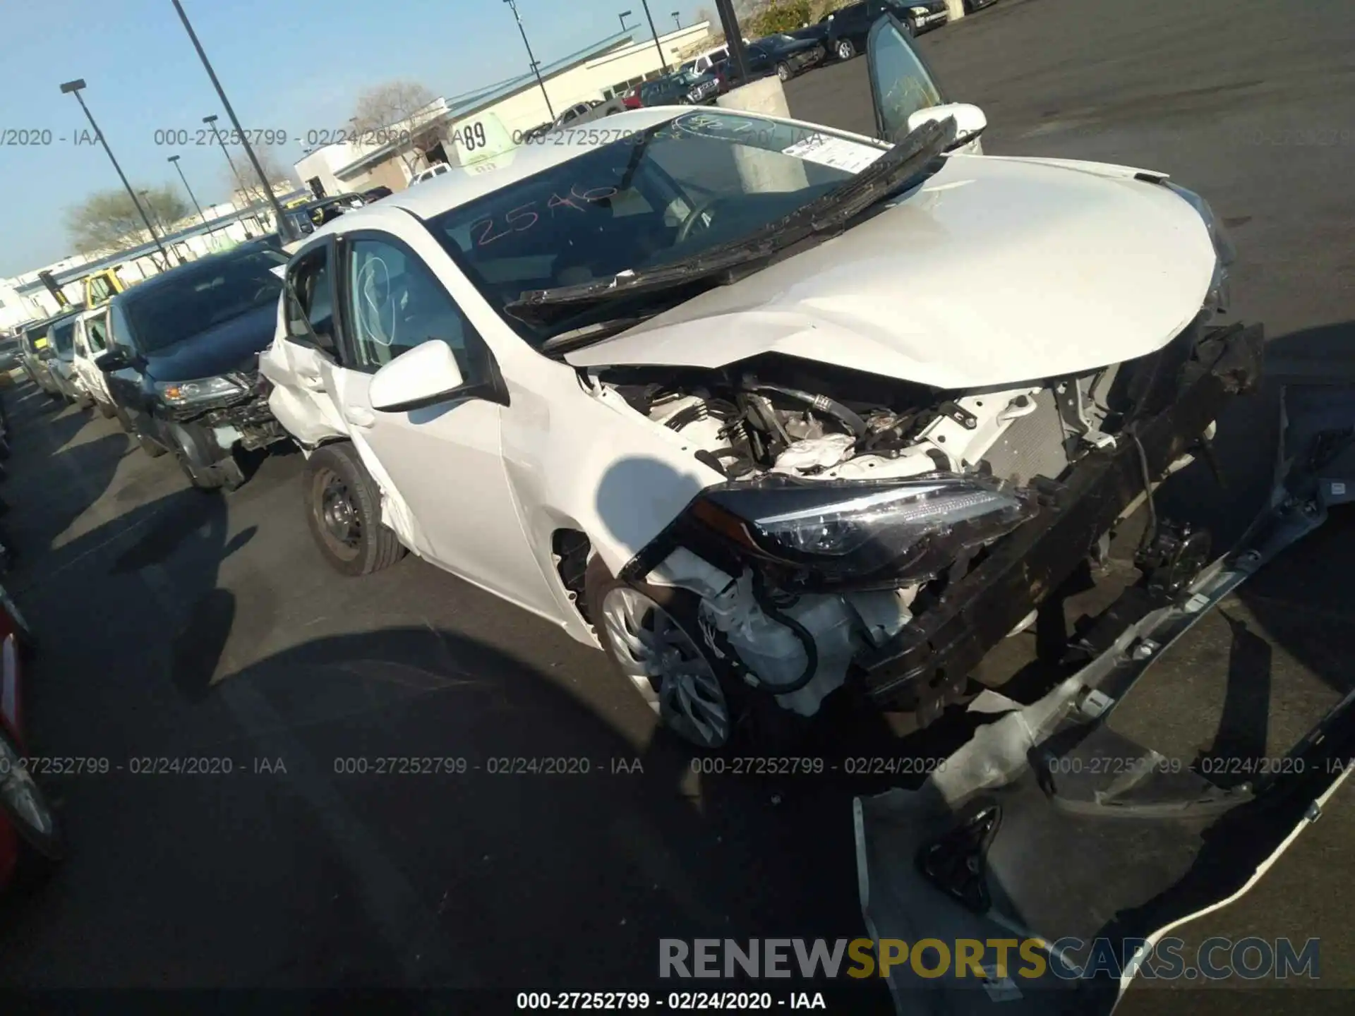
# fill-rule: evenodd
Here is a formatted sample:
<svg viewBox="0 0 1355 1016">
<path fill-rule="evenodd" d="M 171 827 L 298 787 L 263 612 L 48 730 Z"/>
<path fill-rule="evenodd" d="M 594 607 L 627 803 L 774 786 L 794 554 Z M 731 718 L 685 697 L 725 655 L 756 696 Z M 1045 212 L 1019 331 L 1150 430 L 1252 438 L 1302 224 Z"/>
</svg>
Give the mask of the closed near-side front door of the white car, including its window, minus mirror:
<svg viewBox="0 0 1355 1016">
<path fill-rule="evenodd" d="M 354 443 L 379 463 L 421 534 L 425 557 L 528 610 L 556 599 L 527 543 L 500 447 L 507 396 L 378 412 L 371 377 L 425 341 L 451 347 L 467 386 L 497 377 L 489 347 L 431 264 L 455 271 L 431 237 L 363 230 L 339 242 L 341 364 L 329 368 Z M 366 457 L 364 457 L 366 458 Z"/>
</svg>

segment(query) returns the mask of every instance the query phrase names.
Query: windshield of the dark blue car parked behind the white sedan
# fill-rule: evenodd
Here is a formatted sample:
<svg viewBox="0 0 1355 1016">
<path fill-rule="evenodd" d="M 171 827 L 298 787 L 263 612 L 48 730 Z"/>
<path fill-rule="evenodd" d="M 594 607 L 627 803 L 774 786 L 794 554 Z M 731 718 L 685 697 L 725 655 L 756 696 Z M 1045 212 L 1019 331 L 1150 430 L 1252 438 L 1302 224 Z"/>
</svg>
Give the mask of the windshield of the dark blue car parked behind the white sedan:
<svg viewBox="0 0 1355 1016">
<path fill-rule="evenodd" d="M 271 249 L 225 253 L 175 268 L 118 299 L 138 348 L 154 352 L 276 303 L 282 280 L 270 268 L 286 263 L 286 255 Z"/>
</svg>

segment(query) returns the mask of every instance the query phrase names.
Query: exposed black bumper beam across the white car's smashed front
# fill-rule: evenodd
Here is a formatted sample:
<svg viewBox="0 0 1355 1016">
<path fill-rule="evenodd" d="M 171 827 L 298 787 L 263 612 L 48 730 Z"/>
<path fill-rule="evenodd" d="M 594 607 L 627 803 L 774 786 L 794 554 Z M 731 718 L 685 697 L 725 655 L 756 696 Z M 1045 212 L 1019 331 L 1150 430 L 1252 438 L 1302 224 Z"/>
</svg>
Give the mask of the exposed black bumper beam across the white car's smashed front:
<svg viewBox="0 0 1355 1016">
<path fill-rule="evenodd" d="M 1144 459 L 1156 482 L 1191 451 L 1232 396 L 1256 385 L 1260 325 L 1214 329 L 1198 341 L 1192 329 L 1186 333 L 1191 341 L 1173 343 L 1142 375 L 1137 415 L 1125 424 L 1137 443 L 1122 435 L 1084 457 L 1062 484 L 1047 484 L 1039 516 L 995 545 L 893 639 L 856 658 L 877 704 L 904 704 L 934 719 L 959 700 L 984 654 L 1068 580 L 1144 493 Z"/>
</svg>

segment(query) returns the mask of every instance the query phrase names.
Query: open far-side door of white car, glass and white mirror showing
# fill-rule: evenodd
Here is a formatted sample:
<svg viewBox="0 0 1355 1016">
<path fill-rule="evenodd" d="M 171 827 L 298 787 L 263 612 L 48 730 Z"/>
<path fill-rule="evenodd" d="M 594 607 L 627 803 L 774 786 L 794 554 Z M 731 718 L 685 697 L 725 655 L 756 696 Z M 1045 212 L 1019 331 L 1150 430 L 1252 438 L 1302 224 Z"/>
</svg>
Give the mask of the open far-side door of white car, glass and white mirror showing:
<svg viewBox="0 0 1355 1016">
<path fill-rule="evenodd" d="M 954 117 L 965 141 L 953 150 L 982 154 L 978 135 L 986 126 L 977 106 L 946 99 L 921 54 L 913 49 L 911 33 L 893 14 L 875 20 L 866 39 L 875 134 L 890 144 L 902 140 L 930 118 Z"/>
</svg>

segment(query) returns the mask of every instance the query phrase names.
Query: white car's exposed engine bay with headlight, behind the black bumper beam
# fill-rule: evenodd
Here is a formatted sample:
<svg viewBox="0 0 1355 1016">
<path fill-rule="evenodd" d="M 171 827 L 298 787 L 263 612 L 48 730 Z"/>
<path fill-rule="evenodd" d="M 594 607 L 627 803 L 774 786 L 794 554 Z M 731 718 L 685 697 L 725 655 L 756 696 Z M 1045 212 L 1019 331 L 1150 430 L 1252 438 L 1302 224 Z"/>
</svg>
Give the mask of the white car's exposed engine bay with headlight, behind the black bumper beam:
<svg viewBox="0 0 1355 1016">
<path fill-rule="evenodd" d="M 1192 343 L 1176 345 L 1188 354 Z M 974 391 L 778 355 L 720 370 L 603 371 L 602 383 L 728 478 L 630 577 L 696 592 L 717 656 L 732 650 L 745 683 L 812 715 L 854 661 L 897 641 L 1038 515 L 1045 490 L 1117 446 L 1164 359 L 1180 366 L 1168 350 Z M 1172 470 L 1148 480 L 1142 465 L 1148 497 Z M 1012 633 L 1033 620 L 1034 607 Z"/>
</svg>

